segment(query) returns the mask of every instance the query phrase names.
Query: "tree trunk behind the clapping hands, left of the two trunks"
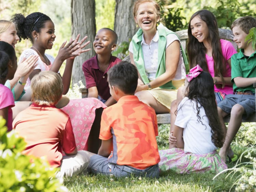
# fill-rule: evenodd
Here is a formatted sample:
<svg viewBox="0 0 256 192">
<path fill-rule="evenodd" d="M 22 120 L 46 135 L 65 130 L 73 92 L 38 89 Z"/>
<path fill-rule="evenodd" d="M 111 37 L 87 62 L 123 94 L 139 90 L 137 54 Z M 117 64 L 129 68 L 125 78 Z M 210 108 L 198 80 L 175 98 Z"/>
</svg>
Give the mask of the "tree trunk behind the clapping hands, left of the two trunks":
<svg viewBox="0 0 256 192">
<path fill-rule="evenodd" d="M 72 85 L 80 80 L 85 85 L 82 65 L 86 60 L 95 55 L 93 49 L 93 41 L 96 35 L 95 0 L 71 0 L 71 22 L 72 38 L 75 38 L 80 33 L 80 40 L 84 36 L 88 36 L 86 41 L 90 41 L 90 44 L 84 49 L 91 48 L 91 50 L 75 58 L 72 71 Z"/>
</svg>

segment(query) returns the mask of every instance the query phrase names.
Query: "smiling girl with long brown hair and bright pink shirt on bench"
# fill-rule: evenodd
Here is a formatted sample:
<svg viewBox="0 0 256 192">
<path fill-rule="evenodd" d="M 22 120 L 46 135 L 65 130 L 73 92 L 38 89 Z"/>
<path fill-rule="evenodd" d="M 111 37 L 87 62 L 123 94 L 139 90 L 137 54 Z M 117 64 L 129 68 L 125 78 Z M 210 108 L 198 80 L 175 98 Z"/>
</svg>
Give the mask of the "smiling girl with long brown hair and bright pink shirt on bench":
<svg viewBox="0 0 256 192">
<path fill-rule="evenodd" d="M 221 102 L 227 94 L 233 93 L 231 83 L 231 56 L 236 53 L 232 43 L 219 38 L 217 20 L 212 12 L 200 10 L 194 13 L 188 25 L 187 53 L 190 69 L 197 64 L 208 71 L 214 82 L 216 102 Z M 176 119 L 175 111 L 184 98 L 184 87 L 180 87 L 177 100 L 171 103 L 170 136 Z M 169 141 L 169 148 L 174 146 Z"/>
</svg>

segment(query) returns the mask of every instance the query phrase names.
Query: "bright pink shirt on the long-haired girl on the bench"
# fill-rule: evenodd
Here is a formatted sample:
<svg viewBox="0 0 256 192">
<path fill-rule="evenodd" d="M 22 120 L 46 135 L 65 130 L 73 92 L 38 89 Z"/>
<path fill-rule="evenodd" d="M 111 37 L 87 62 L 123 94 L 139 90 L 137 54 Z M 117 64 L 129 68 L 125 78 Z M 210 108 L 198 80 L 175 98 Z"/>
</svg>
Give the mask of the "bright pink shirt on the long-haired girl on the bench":
<svg viewBox="0 0 256 192">
<path fill-rule="evenodd" d="M 237 53 L 237 51 L 233 47 L 231 42 L 226 41 L 224 39 L 221 39 L 220 41 L 221 41 L 222 54 L 223 54 L 223 57 L 225 59 L 225 65 L 226 65 L 226 70 L 225 70 L 225 73 L 223 74 L 223 77 L 231 77 L 231 68 L 230 68 L 227 61 L 231 58 L 231 56 L 234 53 Z M 206 57 L 209 73 L 211 74 L 212 77 L 214 77 L 213 57 L 210 57 L 207 54 L 205 54 L 205 57 Z M 223 92 L 223 93 L 226 93 L 226 94 L 233 94 L 233 86 L 232 85 L 225 85 L 225 87 L 223 89 L 222 88 L 218 89 L 214 85 L 214 91 L 215 92 Z"/>
</svg>

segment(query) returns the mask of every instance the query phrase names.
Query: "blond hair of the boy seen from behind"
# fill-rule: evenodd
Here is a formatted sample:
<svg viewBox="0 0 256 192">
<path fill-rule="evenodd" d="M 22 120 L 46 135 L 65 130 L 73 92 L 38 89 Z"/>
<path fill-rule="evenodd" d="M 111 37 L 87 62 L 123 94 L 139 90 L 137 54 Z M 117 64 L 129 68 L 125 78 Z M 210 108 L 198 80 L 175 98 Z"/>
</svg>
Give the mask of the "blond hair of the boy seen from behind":
<svg viewBox="0 0 256 192">
<path fill-rule="evenodd" d="M 37 105 L 56 105 L 62 92 L 62 79 L 53 71 L 41 71 L 31 81 L 31 99 Z"/>
</svg>

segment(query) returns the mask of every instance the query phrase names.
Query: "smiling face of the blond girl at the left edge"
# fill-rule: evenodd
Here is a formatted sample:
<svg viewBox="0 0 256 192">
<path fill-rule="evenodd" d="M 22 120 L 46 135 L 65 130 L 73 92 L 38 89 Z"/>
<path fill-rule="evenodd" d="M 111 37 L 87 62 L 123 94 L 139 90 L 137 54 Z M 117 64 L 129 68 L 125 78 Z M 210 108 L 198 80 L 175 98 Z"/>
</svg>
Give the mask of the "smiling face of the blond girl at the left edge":
<svg viewBox="0 0 256 192">
<path fill-rule="evenodd" d="M 17 35 L 17 30 L 14 23 L 11 23 L 8 29 L 6 29 L 3 33 L 0 34 L 0 41 L 9 43 L 13 46 L 13 48 L 15 48 L 15 45 L 19 41 L 19 37 Z"/>
</svg>

